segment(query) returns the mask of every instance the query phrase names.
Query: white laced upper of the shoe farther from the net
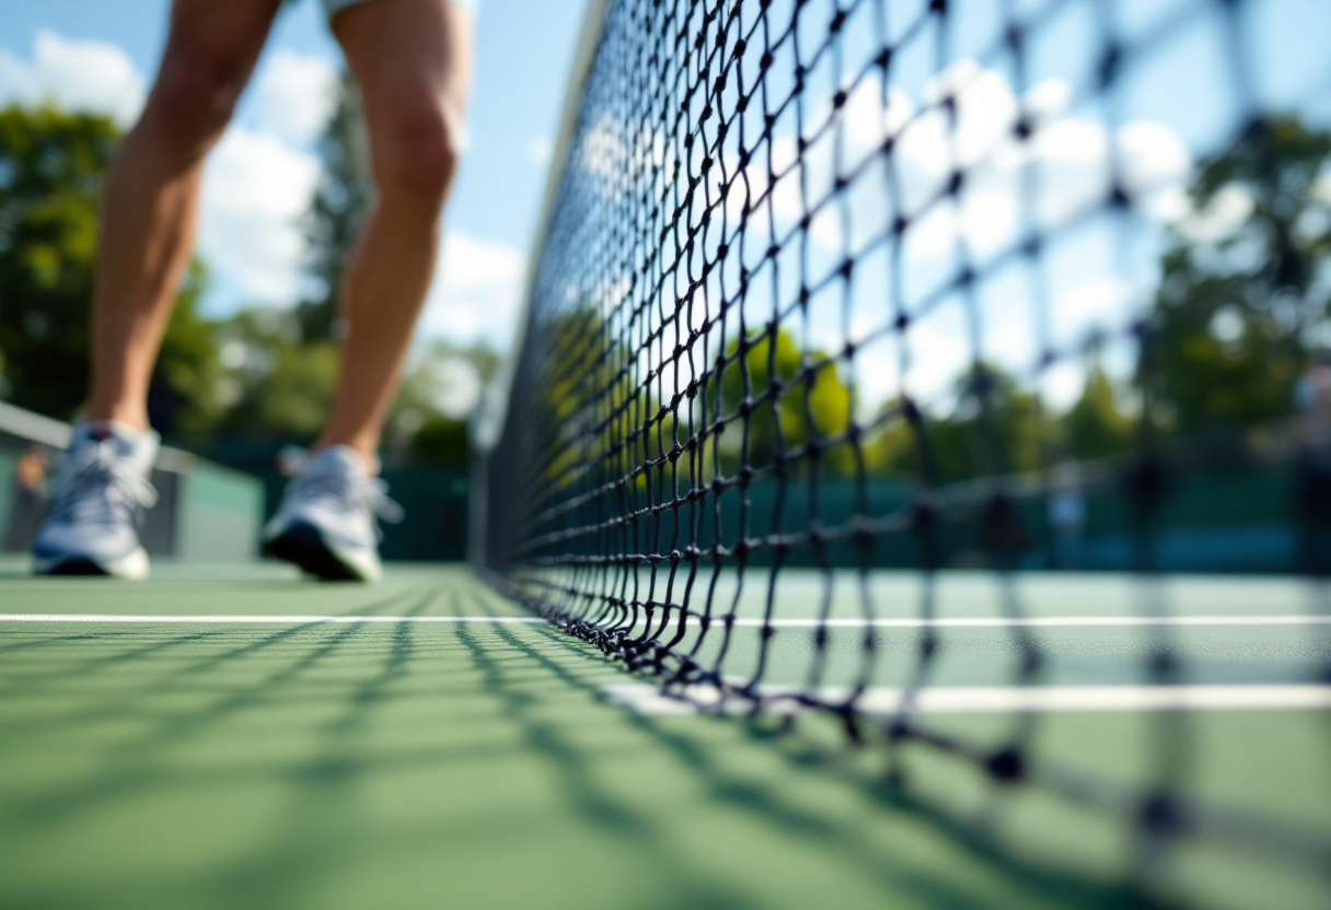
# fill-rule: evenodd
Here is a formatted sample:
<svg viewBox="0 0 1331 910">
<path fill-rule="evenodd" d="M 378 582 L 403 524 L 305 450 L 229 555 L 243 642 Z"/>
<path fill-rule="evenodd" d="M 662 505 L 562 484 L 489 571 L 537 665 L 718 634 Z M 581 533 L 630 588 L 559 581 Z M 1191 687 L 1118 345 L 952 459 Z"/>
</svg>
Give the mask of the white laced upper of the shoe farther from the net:
<svg viewBox="0 0 1331 910">
<path fill-rule="evenodd" d="M 134 523 L 140 510 L 157 504 L 157 490 L 113 438 L 85 439 L 61 455 L 52 496 L 60 522 Z"/>
</svg>

